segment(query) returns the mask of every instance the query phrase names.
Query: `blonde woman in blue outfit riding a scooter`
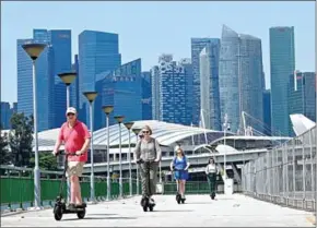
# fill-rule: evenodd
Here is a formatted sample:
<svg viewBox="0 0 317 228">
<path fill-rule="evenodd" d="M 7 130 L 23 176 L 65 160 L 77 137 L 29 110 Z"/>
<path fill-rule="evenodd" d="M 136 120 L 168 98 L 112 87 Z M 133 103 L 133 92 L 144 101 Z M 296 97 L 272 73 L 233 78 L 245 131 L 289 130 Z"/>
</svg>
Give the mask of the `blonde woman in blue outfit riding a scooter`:
<svg viewBox="0 0 317 228">
<path fill-rule="evenodd" d="M 171 170 L 174 170 L 174 178 L 178 187 L 178 193 L 185 200 L 185 183 L 188 179 L 189 163 L 181 148 L 177 148 L 176 157 L 171 163 Z"/>
</svg>

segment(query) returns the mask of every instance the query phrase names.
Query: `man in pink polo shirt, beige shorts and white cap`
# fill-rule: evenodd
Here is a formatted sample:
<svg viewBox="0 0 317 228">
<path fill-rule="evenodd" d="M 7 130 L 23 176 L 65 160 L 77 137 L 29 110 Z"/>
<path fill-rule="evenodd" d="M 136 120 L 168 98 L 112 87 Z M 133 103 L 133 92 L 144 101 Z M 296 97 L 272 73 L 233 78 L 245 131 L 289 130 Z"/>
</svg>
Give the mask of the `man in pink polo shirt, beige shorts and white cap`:
<svg viewBox="0 0 317 228">
<path fill-rule="evenodd" d="M 71 182 L 69 208 L 74 208 L 83 206 L 79 177 L 81 177 L 83 166 L 87 161 L 87 148 L 91 135 L 87 127 L 77 119 L 75 108 L 68 108 L 66 116 L 67 122 L 64 122 L 60 128 L 52 153 L 54 155 L 57 155 L 61 143 L 63 143 L 66 153 L 77 154 L 68 157 L 67 169 L 67 176 L 70 178 Z"/>
</svg>

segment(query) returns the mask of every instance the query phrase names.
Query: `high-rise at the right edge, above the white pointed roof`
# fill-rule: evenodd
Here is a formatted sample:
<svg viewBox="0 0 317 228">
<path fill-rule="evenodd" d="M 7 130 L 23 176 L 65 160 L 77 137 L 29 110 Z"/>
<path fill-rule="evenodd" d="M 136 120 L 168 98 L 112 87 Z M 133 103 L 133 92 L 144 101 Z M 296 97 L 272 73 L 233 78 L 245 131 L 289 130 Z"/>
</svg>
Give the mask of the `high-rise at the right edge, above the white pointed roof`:
<svg viewBox="0 0 317 228">
<path fill-rule="evenodd" d="M 293 113 L 302 113 L 308 119 L 316 122 L 316 74 L 315 72 L 300 72 L 289 76 L 289 116 Z M 294 135 L 290 121 L 290 135 Z"/>
</svg>

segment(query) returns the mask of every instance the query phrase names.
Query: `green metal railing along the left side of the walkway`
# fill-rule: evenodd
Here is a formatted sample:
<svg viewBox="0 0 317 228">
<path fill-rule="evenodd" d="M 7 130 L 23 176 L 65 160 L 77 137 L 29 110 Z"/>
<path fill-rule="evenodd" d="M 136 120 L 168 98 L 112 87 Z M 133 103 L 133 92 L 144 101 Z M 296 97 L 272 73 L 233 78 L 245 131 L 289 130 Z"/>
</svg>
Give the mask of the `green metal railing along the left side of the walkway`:
<svg viewBox="0 0 317 228">
<path fill-rule="evenodd" d="M 1 212 L 26 209 L 34 204 L 34 177 L 33 169 L 0 166 L 0 200 Z M 40 195 L 42 206 L 52 206 L 59 194 L 61 171 L 40 171 Z M 90 176 L 81 178 L 81 192 L 84 201 L 90 201 Z M 130 195 L 129 179 L 122 178 L 124 197 Z M 67 183 L 63 183 L 63 195 L 67 196 Z M 139 184 L 141 187 L 141 184 Z M 132 194 L 137 194 L 137 180 L 132 179 Z M 141 192 L 141 188 L 139 189 Z M 107 196 L 107 178 L 95 176 L 95 197 L 104 201 Z M 111 180 L 111 200 L 119 197 L 119 181 Z"/>
</svg>

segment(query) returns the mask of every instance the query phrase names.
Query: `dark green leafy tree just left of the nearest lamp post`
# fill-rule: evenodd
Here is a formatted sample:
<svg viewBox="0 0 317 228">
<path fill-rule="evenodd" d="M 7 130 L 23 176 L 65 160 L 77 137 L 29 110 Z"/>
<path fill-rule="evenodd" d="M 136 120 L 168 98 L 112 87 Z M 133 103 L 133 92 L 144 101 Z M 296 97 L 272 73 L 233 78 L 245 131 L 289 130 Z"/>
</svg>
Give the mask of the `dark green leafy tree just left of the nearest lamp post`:
<svg viewBox="0 0 317 228">
<path fill-rule="evenodd" d="M 13 164 L 17 167 L 30 166 L 33 142 L 33 116 L 13 113 L 11 117 L 9 145 L 13 156 Z"/>
</svg>

